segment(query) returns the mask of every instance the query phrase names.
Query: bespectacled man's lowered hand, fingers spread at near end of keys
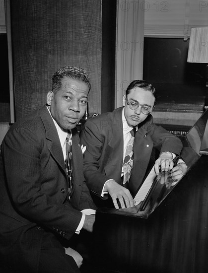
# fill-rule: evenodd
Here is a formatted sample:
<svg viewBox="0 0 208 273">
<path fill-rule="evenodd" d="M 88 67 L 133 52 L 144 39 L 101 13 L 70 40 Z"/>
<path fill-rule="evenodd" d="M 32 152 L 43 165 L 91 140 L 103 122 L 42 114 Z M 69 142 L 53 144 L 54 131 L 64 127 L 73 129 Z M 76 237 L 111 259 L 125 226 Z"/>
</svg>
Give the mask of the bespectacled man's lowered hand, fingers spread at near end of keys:
<svg viewBox="0 0 208 273">
<path fill-rule="evenodd" d="M 117 200 L 119 201 L 121 208 L 134 206 L 134 200 L 130 191 L 123 186 L 116 183 L 114 180 L 109 180 L 105 184 L 104 191 L 108 191 L 110 194 L 115 208 L 120 208 Z"/>
</svg>

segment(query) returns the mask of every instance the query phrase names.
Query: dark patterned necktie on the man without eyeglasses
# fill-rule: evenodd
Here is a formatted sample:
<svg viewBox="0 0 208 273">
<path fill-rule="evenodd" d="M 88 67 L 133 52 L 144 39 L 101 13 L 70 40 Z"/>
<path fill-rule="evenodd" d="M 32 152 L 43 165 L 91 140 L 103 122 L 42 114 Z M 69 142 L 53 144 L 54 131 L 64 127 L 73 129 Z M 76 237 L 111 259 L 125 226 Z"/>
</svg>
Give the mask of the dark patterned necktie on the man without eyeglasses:
<svg viewBox="0 0 208 273">
<path fill-rule="evenodd" d="M 73 185 L 73 177 L 72 177 L 72 169 L 71 169 L 71 146 L 72 146 L 72 140 L 71 140 L 71 133 L 68 133 L 67 139 L 66 139 L 66 169 L 67 169 L 67 177 L 68 177 L 68 186 L 69 186 L 69 195 L 72 189 Z"/>
</svg>

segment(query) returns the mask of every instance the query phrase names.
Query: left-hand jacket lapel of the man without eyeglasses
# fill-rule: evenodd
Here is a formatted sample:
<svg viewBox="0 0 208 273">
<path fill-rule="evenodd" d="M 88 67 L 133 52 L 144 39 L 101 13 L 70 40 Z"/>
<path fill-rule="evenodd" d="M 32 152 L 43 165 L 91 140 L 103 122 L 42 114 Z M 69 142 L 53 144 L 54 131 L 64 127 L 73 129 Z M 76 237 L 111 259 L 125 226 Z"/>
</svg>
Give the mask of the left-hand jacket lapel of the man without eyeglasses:
<svg viewBox="0 0 208 273">
<path fill-rule="evenodd" d="M 45 127 L 46 138 L 49 140 L 49 151 L 66 174 L 66 167 L 59 135 L 46 105 L 40 109 L 40 117 Z"/>
</svg>

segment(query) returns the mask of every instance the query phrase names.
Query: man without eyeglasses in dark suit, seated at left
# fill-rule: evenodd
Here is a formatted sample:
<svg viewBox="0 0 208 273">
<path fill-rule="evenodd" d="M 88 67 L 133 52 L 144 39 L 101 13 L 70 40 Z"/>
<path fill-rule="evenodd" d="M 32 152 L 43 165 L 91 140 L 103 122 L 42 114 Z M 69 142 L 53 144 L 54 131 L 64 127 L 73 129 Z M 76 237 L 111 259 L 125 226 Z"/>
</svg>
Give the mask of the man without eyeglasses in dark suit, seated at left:
<svg viewBox="0 0 208 273">
<path fill-rule="evenodd" d="M 91 232 L 95 221 L 94 214 L 86 215 L 93 211 L 85 209 L 96 207 L 84 182 L 75 129 L 89 90 L 84 69 L 60 68 L 53 75 L 47 105 L 16 122 L 4 137 L 0 255 L 11 272 L 79 272 L 62 242 L 81 229 Z M 71 182 L 65 165 L 67 136 L 72 143 Z"/>
</svg>

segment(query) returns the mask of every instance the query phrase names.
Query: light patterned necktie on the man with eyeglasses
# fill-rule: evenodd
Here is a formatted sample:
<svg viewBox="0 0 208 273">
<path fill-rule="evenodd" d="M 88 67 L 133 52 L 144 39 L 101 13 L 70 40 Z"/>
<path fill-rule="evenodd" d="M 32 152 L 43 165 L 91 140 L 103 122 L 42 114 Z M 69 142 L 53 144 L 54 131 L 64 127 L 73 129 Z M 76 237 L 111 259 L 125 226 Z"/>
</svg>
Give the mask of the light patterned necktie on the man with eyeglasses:
<svg viewBox="0 0 208 273">
<path fill-rule="evenodd" d="M 136 133 L 136 128 L 134 128 L 131 133 L 131 138 L 127 144 L 127 150 L 124 158 L 124 163 L 123 163 L 123 171 L 124 171 L 124 181 L 123 184 L 126 184 L 129 182 L 130 177 L 131 177 L 131 172 L 132 172 L 132 167 L 133 167 L 133 159 L 134 159 L 134 154 L 133 154 L 133 146 L 134 146 L 134 140 L 135 140 L 135 133 Z M 127 185 L 125 185 L 127 186 Z"/>
</svg>

